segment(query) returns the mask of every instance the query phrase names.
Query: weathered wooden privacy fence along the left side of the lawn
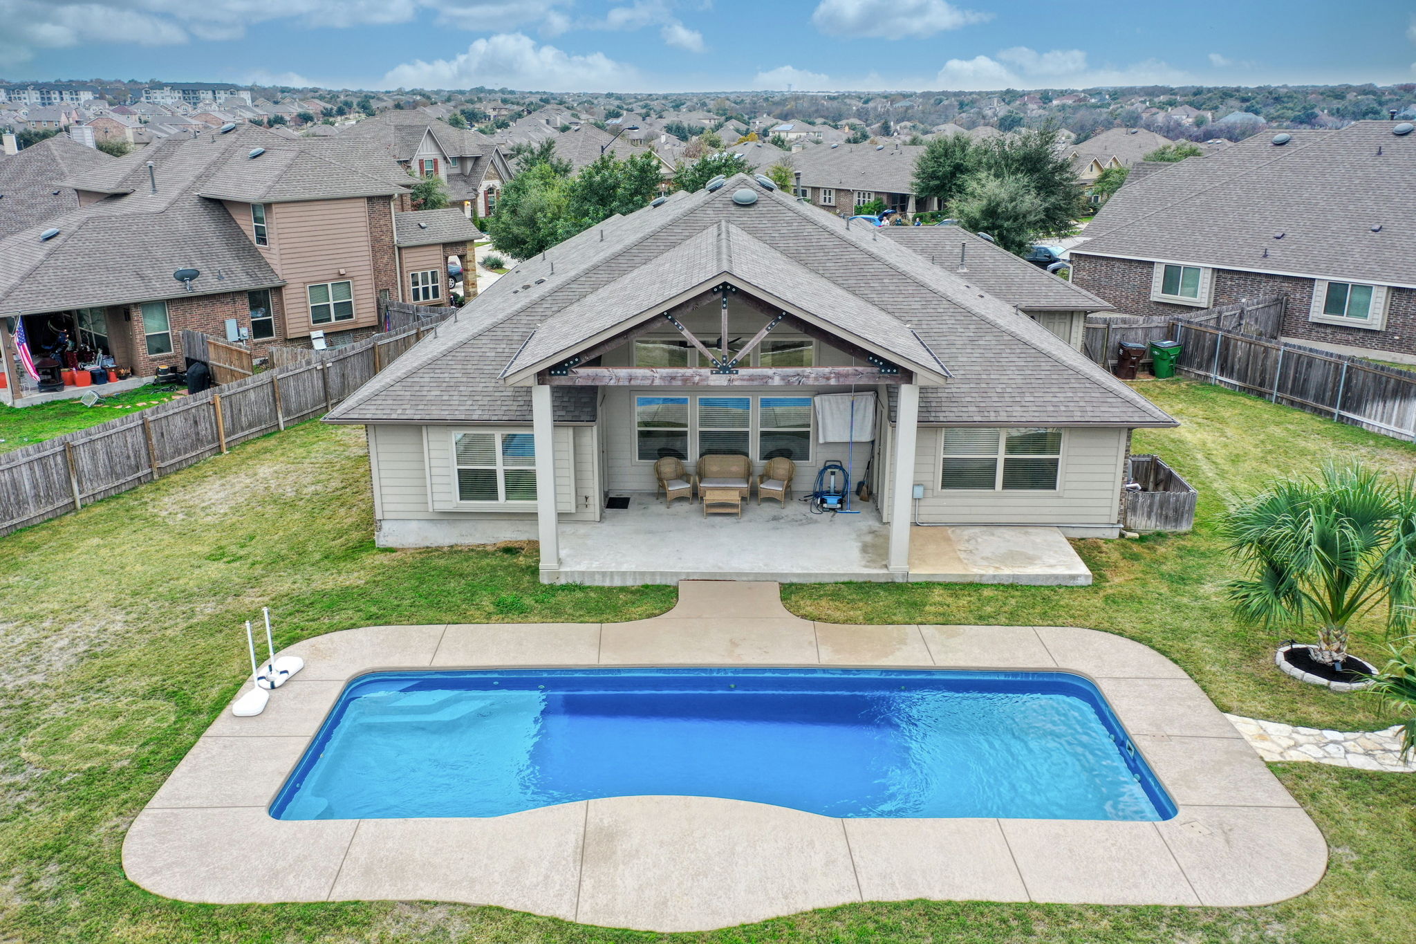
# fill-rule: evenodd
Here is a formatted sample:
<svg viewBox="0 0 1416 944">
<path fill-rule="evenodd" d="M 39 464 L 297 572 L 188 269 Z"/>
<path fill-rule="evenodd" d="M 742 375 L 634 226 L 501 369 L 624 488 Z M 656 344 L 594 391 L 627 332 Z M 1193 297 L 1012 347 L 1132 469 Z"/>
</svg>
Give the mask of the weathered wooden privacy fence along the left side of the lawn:
<svg viewBox="0 0 1416 944">
<path fill-rule="evenodd" d="M 348 347 L 320 351 L 319 359 L 222 384 L 0 454 L 0 535 L 76 511 L 255 436 L 319 416 L 433 330 L 415 327 L 375 334 Z"/>
</svg>

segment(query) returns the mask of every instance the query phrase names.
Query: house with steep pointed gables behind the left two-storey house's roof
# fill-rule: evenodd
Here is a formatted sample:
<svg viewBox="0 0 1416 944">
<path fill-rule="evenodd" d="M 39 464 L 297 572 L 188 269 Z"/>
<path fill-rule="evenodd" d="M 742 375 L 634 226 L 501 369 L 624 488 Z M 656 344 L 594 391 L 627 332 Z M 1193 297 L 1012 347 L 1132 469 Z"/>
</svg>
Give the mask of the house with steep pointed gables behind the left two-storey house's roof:
<svg viewBox="0 0 1416 944">
<path fill-rule="evenodd" d="M 474 209 L 477 217 L 491 214 L 501 185 L 511 180 L 511 170 L 490 137 L 416 110 L 389 109 L 326 140 L 333 142 L 334 153 L 344 142 L 378 144 L 409 173 L 440 177 L 449 200 L 464 211 Z"/>
</svg>

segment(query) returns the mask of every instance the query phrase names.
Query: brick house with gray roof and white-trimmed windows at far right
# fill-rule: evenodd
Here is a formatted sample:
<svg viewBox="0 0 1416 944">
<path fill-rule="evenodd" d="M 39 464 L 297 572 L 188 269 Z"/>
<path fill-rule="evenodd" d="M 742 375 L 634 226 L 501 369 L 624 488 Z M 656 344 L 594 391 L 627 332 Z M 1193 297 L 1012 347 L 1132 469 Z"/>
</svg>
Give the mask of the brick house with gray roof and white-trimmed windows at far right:
<svg viewBox="0 0 1416 944">
<path fill-rule="evenodd" d="M 1127 181 L 1072 280 L 1141 316 L 1280 294 L 1284 337 L 1416 362 L 1412 180 L 1410 123 L 1257 134 Z"/>
</svg>

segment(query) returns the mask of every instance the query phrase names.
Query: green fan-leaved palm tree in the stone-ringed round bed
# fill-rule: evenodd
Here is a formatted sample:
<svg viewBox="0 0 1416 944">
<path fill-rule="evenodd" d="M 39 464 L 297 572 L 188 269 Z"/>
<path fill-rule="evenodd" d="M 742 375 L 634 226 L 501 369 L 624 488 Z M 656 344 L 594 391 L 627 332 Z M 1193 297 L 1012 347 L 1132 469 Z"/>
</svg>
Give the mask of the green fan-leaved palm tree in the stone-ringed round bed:
<svg viewBox="0 0 1416 944">
<path fill-rule="evenodd" d="M 1313 657 L 1342 669 L 1348 627 L 1386 607 L 1405 635 L 1416 603 L 1416 493 L 1412 480 L 1359 466 L 1286 478 L 1225 521 L 1247 576 L 1228 583 L 1239 616 L 1266 627 L 1317 624 Z"/>
</svg>

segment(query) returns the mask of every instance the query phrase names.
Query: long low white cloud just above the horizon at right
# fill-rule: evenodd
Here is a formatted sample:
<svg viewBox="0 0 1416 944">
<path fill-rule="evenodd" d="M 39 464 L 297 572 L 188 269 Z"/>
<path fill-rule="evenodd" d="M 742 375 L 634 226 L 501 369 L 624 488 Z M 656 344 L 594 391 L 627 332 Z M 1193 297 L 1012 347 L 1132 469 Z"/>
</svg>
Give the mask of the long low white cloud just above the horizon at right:
<svg viewBox="0 0 1416 944">
<path fill-rule="evenodd" d="M 1184 72 L 1158 59 L 1096 68 L 1082 50 L 1038 52 L 1028 47 L 1003 50 L 997 58 L 949 59 L 935 78 L 937 88 L 959 91 L 1181 85 L 1187 81 Z"/>
</svg>

